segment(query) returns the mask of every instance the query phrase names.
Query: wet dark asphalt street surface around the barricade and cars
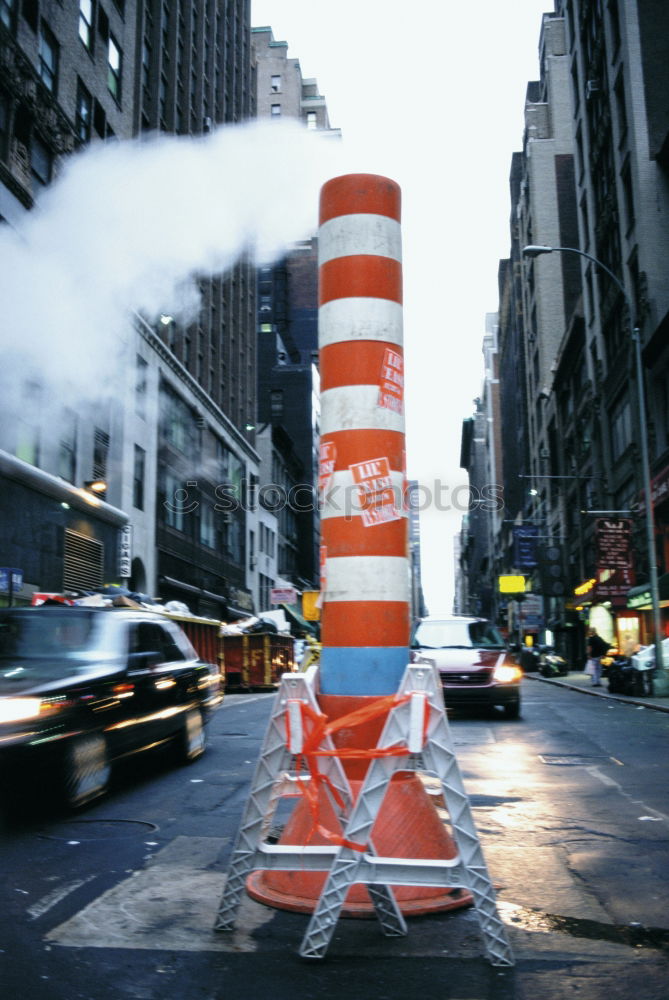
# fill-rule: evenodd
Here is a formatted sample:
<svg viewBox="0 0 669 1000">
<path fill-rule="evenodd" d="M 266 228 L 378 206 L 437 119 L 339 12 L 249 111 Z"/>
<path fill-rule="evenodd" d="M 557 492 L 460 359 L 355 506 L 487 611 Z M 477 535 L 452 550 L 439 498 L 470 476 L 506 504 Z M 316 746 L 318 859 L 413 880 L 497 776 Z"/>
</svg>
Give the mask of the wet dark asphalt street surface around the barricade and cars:
<svg viewBox="0 0 669 1000">
<path fill-rule="evenodd" d="M 473 909 L 384 938 L 247 899 L 212 925 L 271 694 L 228 695 L 193 765 L 145 757 L 76 816 L 5 817 L 0 984 L 24 1000 L 663 1000 L 669 976 L 669 714 L 528 677 L 522 718 L 451 733 L 516 956 L 492 968 Z"/>
</svg>

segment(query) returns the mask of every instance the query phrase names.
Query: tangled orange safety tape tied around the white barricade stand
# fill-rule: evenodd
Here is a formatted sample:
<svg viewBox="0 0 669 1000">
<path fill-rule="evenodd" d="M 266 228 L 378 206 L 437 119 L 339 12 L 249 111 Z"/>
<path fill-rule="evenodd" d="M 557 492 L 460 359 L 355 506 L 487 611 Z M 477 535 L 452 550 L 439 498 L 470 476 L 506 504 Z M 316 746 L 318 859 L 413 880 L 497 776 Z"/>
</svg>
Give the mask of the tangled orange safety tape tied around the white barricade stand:
<svg viewBox="0 0 669 1000">
<path fill-rule="evenodd" d="M 357 708 L 347 715 L 340 716 L 334 722 L 329 722 L 327 715 L 324 715 L 322 712 L 316 712 L 306 702 L 300 702 L 304 743 L 302 753 L 298 755 L 296 770 L 299 772 L 301 760 L 304 758 L 312 778 L 312 781 L 298 782 L 297 786 L 300 793 L 306 799 L 307 807 L 313 819 L 313 826 L 307 838 L 307 843 L 318 832 L 322 837 L 330 841 L 330 843 L 337 844 L 339 847 L 349 847 L 361 853 L 367 850 L 366 844 L 358 844 L 355 841 L 348 840 L 346 837 L 341 837 L 339 834 L 333 833 L 332 830 L 328 830 L 320 822 L 318 793 L 321 787 L 326 787 L 330 791 L 340 809 L 344 808 L 344 802 L 330 778 L 319 770 L 318 758 L 339 757 L 348 760 L 373 760 L 379 757 L 405 757 L 409 754 L 409 748 L 405 744 L 397 744 L 392 747 L 372 747 L 369 749 L 342 747 L 340 749 L 335 748 L 334 750 L 321 750 L 319 747 L 326 736 L 332 736 L 340 729 L 350 729 L 386 715 L 392 708 L 405 704 L 410 698 L 410 694 L 402 695 L 401 697 L 396 694 L 387 695 L 386 697 L 378 698 L 371 705 L 365 705 L 363 708 Z M 427 737 L 429 715 L 430 713 L 426 711 L 423 723 L 424 738 Z M 311 725 L 307 725 L 307 722 L 311 723 Z M 286 712 L 286 730 L 286 742 L 290 744 L 290 715 L 288 712 Z"/>
</svg>

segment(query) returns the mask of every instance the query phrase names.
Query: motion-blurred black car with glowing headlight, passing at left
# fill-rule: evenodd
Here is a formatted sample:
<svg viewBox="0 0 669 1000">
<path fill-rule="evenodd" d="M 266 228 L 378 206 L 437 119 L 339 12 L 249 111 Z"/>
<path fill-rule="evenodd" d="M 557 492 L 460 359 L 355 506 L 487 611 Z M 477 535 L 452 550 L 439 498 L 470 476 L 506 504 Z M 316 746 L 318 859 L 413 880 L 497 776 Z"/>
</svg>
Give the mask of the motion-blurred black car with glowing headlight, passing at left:
<svg viewBox="0 0 669 1000">
<path fill-rule="evenodd" d="M 199 757 L 221 701 L 218 668 L 160 614 L 0 610 L 0 774 L 38 766 L 70 806 L 102 794 L 120 757 L 168 741 Z"/>
</svg>

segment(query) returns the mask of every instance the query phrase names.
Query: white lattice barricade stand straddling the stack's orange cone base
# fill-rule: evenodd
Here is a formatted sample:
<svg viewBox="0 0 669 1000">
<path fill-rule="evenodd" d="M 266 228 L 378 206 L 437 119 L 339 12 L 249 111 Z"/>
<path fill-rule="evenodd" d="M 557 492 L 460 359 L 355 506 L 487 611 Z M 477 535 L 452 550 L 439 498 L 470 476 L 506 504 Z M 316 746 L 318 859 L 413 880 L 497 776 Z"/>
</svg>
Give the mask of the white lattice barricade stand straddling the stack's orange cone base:
<svg viewBox="0 0 669 1000">
<path fill-rule="evenodd" d="M 441 886 L 468 890 L 473 898 L 486 953 L 492 965 L 513 965 L 506 929 L 497 912 L 495 890 L 483 858 L 469 799 L 464 790 L 453 749 L 439 674 L 432 664 L 410 664 L 398 691 L 398 704 L 391 708 L 378 748 L 404 746 L 409 756 L 373 758 L 360 792 L 353 802 L 343 767 L 336 756 L 320 757 L 321 771 L 337 790 L 343 808 L 331 795 L 341 821 L 343 839 L 365 844 L 365 851 L 344 846 L 268 844 L 264 841 L 278 799 L 286 782 L 309 780 L 293 767 L 302 752 L 309 725 L 299 706 L 304 702 L 319 711 L 315 695 L 317 668 L 305 675 L 284 674 L 275 700 L 267 734 L 256 768 L 228 877 L 214 925 L 215 930 L 234 928 L 247 875 L 255 870 L 326 871 L 321 896 L 311 916 L 300 947 L 304 958 L 323 958 L 349 888 L 364 883 L 374 904 L 384 934 L 406 934 L 404 917 L 391 886 Z M 325 737 L 320 749 L 334 749 Z M 379 813 L 388 783 L 396 771 L 431 772 L 440 780 L 453 829 L 457 856 L 444 859 L 379 857 L 370 833 Z"/>
</svg>

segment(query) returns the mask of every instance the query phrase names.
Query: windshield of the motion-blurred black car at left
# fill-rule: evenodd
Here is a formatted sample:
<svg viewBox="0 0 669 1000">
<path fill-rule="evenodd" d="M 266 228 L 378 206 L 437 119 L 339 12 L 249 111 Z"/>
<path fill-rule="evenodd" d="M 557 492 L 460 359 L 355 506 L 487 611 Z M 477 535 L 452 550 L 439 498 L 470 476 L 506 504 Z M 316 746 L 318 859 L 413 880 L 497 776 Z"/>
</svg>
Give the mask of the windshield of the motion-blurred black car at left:
<svg viewBox="0 0 669 1000">
<path fill-rule="evenodd" d="M 76 609 L 0 611 L 0 679 L 58 677 L 100 656 L 94 616 Z"/>
</svg>

